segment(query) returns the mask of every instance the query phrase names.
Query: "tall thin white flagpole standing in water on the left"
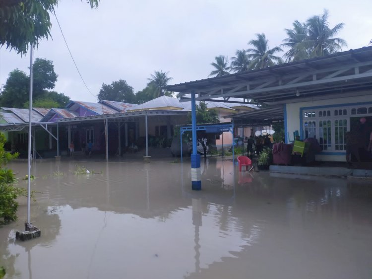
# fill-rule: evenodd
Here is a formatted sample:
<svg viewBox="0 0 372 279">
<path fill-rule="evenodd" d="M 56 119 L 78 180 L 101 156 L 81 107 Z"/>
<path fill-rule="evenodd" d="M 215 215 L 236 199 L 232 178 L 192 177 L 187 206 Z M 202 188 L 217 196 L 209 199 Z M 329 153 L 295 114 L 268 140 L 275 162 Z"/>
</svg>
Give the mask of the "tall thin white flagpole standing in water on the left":
<svg viewBox="0 0 372 279">
<path fill-rule="evenodd" d="M 31 196 L 31 110 L 32 110 L 32 79 L 33 79 L 34 47 L 30 44 L 30 107 L 28 119 L 28 155 L 27 155 L 27 223 L 30 223 L 30 196 Z"/>
</svg>

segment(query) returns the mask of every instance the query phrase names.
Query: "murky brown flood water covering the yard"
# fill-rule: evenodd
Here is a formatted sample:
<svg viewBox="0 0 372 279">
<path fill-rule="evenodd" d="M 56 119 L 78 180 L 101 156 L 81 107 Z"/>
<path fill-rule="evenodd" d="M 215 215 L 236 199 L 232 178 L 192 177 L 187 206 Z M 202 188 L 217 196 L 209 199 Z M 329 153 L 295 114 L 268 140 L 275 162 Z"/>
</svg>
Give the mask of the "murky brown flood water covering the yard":
<svg viewBox="0 0 372 279">
<path fill-rule="evenodd" d="M 76 175 L 75 163 L 95 174 Z M 0 227 L 5 278 L 371 279 L 372 181 L 239 173 L 202 161 L 45 161 L 32 165 L 42 236 Z M 9 164 L 19 179 L 27 163 Z"/>
</svg>

